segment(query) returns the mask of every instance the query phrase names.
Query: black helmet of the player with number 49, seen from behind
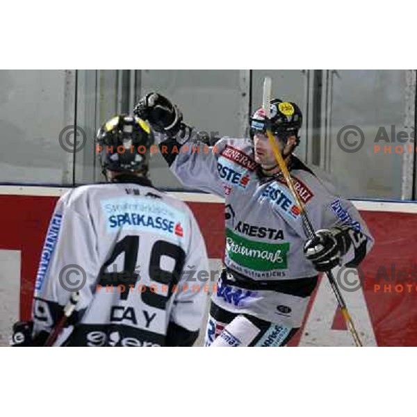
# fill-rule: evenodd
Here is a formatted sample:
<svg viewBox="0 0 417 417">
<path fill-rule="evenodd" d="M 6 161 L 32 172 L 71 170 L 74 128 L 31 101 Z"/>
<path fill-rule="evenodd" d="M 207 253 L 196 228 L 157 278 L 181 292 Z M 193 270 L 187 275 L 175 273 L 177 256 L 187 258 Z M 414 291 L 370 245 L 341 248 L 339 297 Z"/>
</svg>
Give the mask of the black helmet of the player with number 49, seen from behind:
<svg viewBox="0 0 417 417">
<path fill-rule="evenodd" d="M 103 171 L 147 174 L 154 135 L 144 120 L 127 114 L 116 115 L 100 127 L 95 140 Z"/>
</svg>

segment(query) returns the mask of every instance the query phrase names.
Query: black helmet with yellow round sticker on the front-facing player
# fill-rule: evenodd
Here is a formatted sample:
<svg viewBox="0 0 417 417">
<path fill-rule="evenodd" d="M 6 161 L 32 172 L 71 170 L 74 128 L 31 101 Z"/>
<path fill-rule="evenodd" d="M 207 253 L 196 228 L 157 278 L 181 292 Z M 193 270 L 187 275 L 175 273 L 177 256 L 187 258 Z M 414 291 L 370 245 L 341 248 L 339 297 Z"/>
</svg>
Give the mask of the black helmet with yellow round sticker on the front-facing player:
<svg viewBox="0 0 417 417">
<path fill-rule="evenodd" d="M 297 145 L 300 142 L 298 131 L 302 126 L 302 113 L 297 104 L 292 101 L 273 99 L 270 103 L 269 121 L 265 120 L 263 108 L 259 108 L 250 119 L 251 138 L 256 131 L 265 132 L 267 123 L 272 133 L 285 142 L 289 136 L 297 138 Z"/>
</svg>

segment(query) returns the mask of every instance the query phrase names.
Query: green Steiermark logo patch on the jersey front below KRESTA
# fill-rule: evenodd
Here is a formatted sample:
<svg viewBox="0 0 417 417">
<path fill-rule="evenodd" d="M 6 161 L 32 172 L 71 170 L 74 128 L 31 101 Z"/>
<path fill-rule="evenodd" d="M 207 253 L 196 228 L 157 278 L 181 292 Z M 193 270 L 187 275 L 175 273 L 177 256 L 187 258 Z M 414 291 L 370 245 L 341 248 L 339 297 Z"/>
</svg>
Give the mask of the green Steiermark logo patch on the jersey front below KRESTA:
<svg viewBox="0 0 417 417">
<path fill-rule="evenodd" d="M 229 258 L 252 270 L 269 271 L 287 268 L 290 244 L 261 243 L 245 239 L 226 229 L 226 250 Z"/>
</svg>

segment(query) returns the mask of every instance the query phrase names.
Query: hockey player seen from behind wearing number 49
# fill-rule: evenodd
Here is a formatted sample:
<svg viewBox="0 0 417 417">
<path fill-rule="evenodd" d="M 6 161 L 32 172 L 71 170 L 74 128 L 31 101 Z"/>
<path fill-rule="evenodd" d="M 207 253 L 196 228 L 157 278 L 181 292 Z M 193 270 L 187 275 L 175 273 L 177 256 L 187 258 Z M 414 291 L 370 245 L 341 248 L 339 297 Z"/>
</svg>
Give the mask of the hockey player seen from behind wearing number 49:
<svg viewBox="0 0 417 417">
<path fill-rule="evenodd" d="M 75 310 L 53 345 L 190 346 L 207 293 L 186 265 L 208 270 L 204 240 L 188 206 L 147 178 L 154 136 L 117 115 L 97 133 L 107 183 L 60 197 L 45 239 L 33 320 L 14 326 L 12 345 L 44 345 L 74 295 Z M 69 305 L 69 304 L 68 304 Z"/>
</svg>

